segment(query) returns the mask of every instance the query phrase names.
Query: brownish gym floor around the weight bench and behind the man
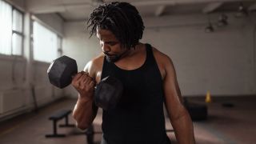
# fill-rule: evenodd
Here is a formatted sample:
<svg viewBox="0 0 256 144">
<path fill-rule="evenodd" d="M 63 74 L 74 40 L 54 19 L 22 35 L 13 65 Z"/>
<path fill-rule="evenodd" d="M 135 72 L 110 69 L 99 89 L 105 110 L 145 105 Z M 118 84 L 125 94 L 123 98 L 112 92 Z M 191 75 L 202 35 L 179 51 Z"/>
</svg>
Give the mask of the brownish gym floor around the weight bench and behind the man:
<svg viewBox="0 0 256 144">
<path fill-rule="evenodd" d="M 202 98 L 190 98 L 190 102 L 203 102 Z M 63 98 L 49 106 L 38 110 L 38 113 L 22 114 L 7 122 L 0 123 L 1 144 L 70 144 L 86 143 L 86 135 L 74 127 L 58 128 L 59 134 L 65 138 L 45 138 L 52 133 L 52 122 L 48 120 L 51 114 L 62 109 L 73 109 L 75 99 Z M 223 106 L 229 102 L 233 107 Z M 225 97 L 214 98 L 208 105 L 206 121 L 194 122 L 194 134 L 198 144 L 242 143 L 256 142 L 256 97 Z M 94 130 L 101 131 L 102 112 L 94 120 Z M 61 120 L 58 123 L 63 123 Z M 74 120 L 70 115 L 70 123 Z M 166 129 L 171 129 L 170 121 L 166 118 Z M 167 133 L 172 143 L 177 143 L 174 133 Z M 95 134 L 94 142 L 99 144 L 102 135 Z"/>
</svg>

